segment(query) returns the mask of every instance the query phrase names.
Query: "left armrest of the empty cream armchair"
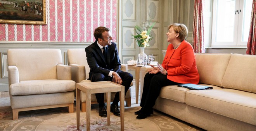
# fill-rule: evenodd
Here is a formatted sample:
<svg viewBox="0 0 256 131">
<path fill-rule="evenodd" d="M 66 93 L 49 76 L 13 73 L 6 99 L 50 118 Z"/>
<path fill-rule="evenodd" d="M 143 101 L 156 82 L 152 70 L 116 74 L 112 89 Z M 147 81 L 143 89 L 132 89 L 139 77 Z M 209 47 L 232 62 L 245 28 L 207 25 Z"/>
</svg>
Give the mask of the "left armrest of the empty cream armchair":
<svg viewBox="0 0 256 131">
<path fill-rule="evenodd" d="M 19 83 L 19 70 L 17 66 L 8 66 L 8 81 L 9 86 L 14 83 Z"/>
</svg>

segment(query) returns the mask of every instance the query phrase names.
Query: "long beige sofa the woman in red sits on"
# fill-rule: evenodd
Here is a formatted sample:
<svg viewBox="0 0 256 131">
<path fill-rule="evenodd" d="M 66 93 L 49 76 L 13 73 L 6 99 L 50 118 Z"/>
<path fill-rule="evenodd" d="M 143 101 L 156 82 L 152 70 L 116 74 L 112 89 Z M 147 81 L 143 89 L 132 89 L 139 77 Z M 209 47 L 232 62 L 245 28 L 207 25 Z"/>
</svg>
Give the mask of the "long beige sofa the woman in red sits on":
<svg viewBox="0 0 256 131">
<path fill-rule="evenodd" d="M 256 131 L 256 55 L 196 53 L 199 84 L 165 86 L 154 109 L 210 131 Z M 144 76 L 151 67 L 142 67 Z"/>
</svg>

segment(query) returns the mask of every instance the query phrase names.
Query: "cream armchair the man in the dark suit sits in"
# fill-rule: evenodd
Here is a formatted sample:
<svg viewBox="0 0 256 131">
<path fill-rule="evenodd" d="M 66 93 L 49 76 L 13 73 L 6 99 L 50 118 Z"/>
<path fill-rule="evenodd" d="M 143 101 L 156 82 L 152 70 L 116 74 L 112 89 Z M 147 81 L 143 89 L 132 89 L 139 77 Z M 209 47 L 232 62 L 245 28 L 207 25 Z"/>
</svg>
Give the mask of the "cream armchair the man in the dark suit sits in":
<svg viewBox="0 0 256 131">
<path fill-rule="evenodd" d="M 87 64 L 85 49 L 68 49 L 67 64 L 72 68 L 72 80 L 79 82 L 91 82 L 89 78 L 90 67 Z M 127 65 L 122 64 L 121 70 L 127 72 Z M 132 83 L 131 83 L 132 86 Z M 115 93 L 111 93 L 111 101 L 114 99 Z M 106 100 L 106 95 L 104 96 Z M 125 95 L 126 106 L 131 106 L 131 88 Z M 97 103 L 95 94 L 92 94 L 92 104 Z M 81 111 L 86 111 L 86 94 L 81 92 Z"/>
</svg>

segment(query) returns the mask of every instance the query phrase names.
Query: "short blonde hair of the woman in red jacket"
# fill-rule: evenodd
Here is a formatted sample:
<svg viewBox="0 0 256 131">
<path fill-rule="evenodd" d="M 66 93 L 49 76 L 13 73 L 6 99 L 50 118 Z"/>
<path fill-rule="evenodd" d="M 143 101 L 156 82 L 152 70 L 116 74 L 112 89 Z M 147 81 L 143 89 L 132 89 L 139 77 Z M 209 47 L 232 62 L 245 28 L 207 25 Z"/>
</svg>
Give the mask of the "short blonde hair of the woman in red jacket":
<svg viewBox="0 0 256 131">
<path fill-rule="evenodd" d="M 188 28 L 184 24 L 174 23 L 168 26 L 168 30 L 173 27 L 176 33 L 179 33 L 178 38 L 180 40 L 186 40 L 188 36 Z"/>
</svg>

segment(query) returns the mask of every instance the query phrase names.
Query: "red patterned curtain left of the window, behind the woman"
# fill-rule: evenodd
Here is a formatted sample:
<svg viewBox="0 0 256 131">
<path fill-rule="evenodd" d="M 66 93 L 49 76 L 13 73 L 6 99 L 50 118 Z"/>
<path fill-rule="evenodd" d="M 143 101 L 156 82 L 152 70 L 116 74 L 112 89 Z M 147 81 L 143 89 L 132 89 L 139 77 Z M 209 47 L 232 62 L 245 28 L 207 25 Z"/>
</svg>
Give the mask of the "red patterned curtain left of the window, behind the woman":
<svg viewBox="0 0 256 131">
<path fill-rule="evenodd" d="M 204 53 L 204 0 L 195 0 L 192 46 L 195 53 Z"/>
</svg>

